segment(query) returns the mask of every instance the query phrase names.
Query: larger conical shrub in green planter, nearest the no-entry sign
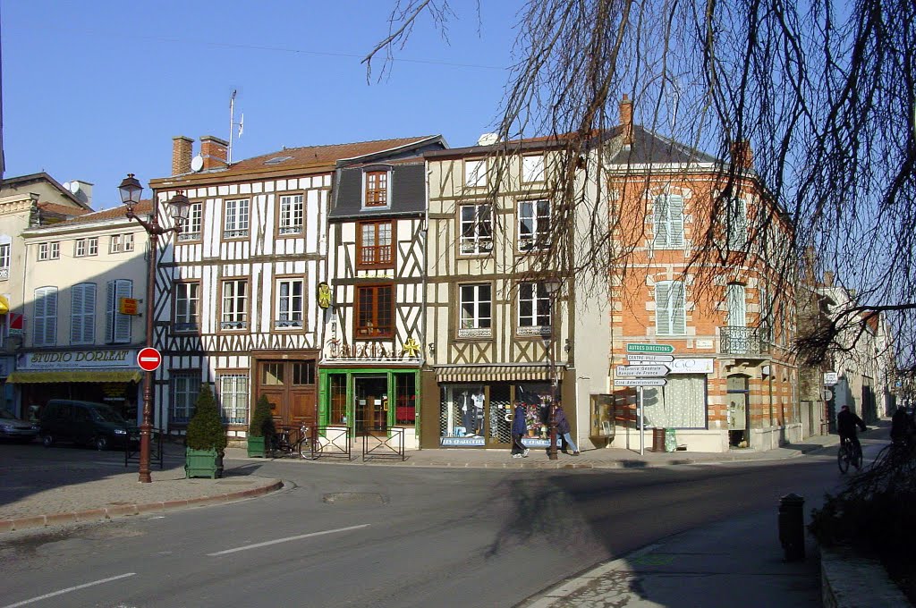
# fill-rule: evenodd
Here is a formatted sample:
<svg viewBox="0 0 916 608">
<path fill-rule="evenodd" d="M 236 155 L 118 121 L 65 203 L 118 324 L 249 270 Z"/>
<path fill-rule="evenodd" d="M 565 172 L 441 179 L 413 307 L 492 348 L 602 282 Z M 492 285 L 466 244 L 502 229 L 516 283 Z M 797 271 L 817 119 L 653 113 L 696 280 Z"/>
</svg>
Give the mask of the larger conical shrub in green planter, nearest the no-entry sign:
<svg viewBox="0 0 916 608">
<path fill-rule="evenodd" d="M 184 470 L 188 477 L 216 479 L 223 476 L 226 431 L 209 385 L 202 385 L 197 396 L 185 443 Z"/>
</svg>

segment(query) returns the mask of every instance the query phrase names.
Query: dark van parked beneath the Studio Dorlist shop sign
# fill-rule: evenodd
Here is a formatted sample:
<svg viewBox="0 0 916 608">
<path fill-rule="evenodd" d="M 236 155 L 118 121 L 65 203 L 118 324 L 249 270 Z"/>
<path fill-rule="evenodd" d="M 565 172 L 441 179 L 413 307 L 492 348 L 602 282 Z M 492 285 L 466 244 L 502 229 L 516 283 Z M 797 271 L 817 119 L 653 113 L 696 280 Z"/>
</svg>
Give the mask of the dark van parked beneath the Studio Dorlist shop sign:
<svg viewBox="0 0 916 608">
<path fill-rule="evenodd" d="M 75 399 L 51 399 L 41 410 L 38 426 L 45 447 L 58 441 L 72 441 L 107 450 L 124 447 L 130 434 L 127 421 L 112 407 Z"/>
</svg>

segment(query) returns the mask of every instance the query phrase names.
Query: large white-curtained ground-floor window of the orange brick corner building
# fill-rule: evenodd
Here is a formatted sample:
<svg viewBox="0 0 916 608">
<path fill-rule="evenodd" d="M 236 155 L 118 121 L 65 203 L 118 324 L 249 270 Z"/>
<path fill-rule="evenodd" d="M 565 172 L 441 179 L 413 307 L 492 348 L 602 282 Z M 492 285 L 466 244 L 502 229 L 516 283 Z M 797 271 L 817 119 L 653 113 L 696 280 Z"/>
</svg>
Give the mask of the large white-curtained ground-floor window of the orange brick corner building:
<svg viewBox="0 0 916 608">
<path fill-rule="evenodd" d="M 664 386 L 642 389 L 646 424 L 669 429 L 706 428 L 706 376 L 669 374 Z"/>
</svg>

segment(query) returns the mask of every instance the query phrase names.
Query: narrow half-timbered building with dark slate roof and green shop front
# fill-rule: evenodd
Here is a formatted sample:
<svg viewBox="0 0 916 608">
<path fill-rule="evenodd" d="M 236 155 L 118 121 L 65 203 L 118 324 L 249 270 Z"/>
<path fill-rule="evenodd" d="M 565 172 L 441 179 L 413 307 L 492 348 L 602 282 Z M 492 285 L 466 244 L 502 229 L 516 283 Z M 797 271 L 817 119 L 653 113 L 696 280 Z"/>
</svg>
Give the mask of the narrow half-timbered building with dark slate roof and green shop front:
<svg viewBox="0 0 916 608">
<path fill-rule="evenodd" d="M 329 221 L 322 425 L 417 447 L 425 342 L 426 166 L 431 136 L 338 161 Z"/>
</svg>

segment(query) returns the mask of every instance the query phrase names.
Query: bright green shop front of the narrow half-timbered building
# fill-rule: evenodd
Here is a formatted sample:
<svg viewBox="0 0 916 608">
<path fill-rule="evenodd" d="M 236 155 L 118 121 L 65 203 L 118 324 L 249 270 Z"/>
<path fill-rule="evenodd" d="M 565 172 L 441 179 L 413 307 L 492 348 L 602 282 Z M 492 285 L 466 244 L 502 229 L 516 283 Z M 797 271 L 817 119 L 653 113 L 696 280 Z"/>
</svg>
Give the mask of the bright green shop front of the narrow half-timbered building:
<svg viewBox="0 0 916 608">
<path fill-rule="evenodd" d="M 416 364 L 319 368 L 320 427 L 347 427 L 354 438 L 403 433 L 404 447 L 418 447 L 417 404 L 420 369 Z"/>
</svg>

